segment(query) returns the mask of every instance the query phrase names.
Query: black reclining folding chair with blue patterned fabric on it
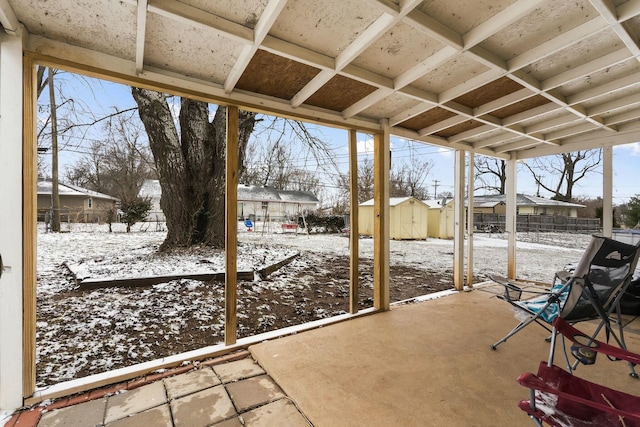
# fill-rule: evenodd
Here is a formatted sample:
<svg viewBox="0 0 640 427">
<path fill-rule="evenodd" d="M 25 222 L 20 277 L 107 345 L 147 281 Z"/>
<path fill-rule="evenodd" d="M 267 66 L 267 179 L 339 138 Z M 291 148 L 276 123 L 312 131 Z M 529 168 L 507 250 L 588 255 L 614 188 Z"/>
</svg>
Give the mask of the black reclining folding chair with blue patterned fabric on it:
<svg viewBox="0 0 640 427">
<path fill-rule="evenodd" d="M 491 344 L 491 348 L 495 350 L 498 345 L 534 322 L 552 332 L 550 325 L 558 316 L 571 324 L 600 319 L 594 337 L 605 328 L 607 339 L 611 336 L 621 348 L 626 348 L 620 299 L 631 281 L 639 254 L 640 244 L 634 246 L 593 236 L 574 271 L 555 273 L 548 292 L 527 290 L 540 294 L 529 300 L 521 300 L 524 289 L 517 284 L 501 277 L 492 277 L 492 280 L 505 287 L 504 294 L 498 297 L 510 303 L 522 320 L 511 332 Z M 619 329 L 617 334 L 613 331 L 610 320 L 614 311 Z M 631 374 L 637 376 L 632 366 Z"/>
</svg>

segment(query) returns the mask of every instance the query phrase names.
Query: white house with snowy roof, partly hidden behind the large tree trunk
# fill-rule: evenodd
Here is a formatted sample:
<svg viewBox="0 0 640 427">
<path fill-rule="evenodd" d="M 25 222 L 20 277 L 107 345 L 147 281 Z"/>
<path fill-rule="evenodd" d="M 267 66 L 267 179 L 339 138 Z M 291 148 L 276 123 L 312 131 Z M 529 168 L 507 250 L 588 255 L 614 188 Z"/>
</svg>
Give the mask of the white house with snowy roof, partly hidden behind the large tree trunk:
<svg viewBox="0 0 640 427">
<path fill-rule="evenodd" d="M 151 201 L 147 221 L 164 221 L 160 208 L 162 188 L 157 179 L 147 179 L 140 189 L 140 196 Z M 259 185 L 238 185 L 238 216 L 253 221 L 265 219 L 283 221 L 303 212 L 315 211 L 320 201 L 308 191 L 278 190 Z"/>
</svg>

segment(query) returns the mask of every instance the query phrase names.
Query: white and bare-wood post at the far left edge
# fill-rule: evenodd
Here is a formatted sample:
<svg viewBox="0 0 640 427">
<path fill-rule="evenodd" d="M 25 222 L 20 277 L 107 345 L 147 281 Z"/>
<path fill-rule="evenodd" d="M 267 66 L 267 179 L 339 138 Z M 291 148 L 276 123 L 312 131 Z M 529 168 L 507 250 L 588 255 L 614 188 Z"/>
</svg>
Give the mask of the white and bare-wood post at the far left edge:
<svg viewBox="0 0 640 427">
<path fill-rule="evenodd" d="M 21 407 L 35 380 L 35 359 L 27 354 L 35 356 L 35 223 L 25 219 L 34 213 L 29 209 L 36 195 L 36 148 L 22 135 L 27 126 L 23 97 L 29 93 L 25 84 L 33 82 L 24 81 L 22 43 L 21 35 L 0 32 L 0 182 L 5 206 L 0 210 L 0 413 Z M 35 132 L 33 117 L 29 123 Z M 30 167 L 23 169 L 27 160 Z"/>
</svg>

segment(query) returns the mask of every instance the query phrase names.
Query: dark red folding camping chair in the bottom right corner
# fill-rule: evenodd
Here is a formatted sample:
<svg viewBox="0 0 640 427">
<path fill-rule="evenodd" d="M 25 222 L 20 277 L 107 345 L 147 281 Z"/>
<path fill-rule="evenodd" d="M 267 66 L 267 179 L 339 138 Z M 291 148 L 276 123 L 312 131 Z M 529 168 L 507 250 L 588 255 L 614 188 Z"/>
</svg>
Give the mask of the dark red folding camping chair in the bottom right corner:
<svg viewBox="0 0 640 427">
<path fill-rule="evenodd" d="M 571 340 L 571 353 L 578 362 L 593 364 L 598 353 L 630 364 L 640 363 L 640 355 L 597 341 L 570 326 L 561 317 L 553 322 L 549 360 L 541 362 L 538 373 L 524 373 L 518 383 L 529 388 L 529 400 L 518 406 L 534 423 L 551 426 L 640 427 L 640 396 L 586 381 L 572 375 L 565 337 Z M 564 359 L 569 371 L 554 365 L 556 333 L 562 337 Z"/>
</svg>

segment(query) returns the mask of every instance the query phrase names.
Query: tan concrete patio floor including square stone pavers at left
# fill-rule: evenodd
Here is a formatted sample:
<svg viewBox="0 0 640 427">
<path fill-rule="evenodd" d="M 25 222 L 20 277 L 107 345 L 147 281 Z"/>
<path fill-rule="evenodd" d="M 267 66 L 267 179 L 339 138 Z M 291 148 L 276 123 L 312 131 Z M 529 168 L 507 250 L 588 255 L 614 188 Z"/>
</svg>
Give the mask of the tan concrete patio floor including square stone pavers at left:
<svg viewBox="0 0 640 427">
<path fill-rule="evenodd" d="M 517 407 L 528 393 L 515 380 L 547 359 L 548 333 L 532 325 L 491 350 L 517 323 L 508 304 L 495 298 L 500 290 L 480 287 L 263 342 L 240 360 L 202 363 L 130 391 L 52 405 L 7 426 L 528 425 Z M 625 329 L 635 352 L 638 323 Z M 640 381 L 623 362 L 600 357 L 577 375 L 640 394 Z"/>
</svg>

